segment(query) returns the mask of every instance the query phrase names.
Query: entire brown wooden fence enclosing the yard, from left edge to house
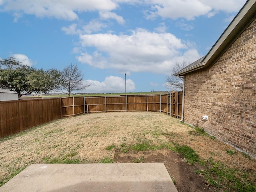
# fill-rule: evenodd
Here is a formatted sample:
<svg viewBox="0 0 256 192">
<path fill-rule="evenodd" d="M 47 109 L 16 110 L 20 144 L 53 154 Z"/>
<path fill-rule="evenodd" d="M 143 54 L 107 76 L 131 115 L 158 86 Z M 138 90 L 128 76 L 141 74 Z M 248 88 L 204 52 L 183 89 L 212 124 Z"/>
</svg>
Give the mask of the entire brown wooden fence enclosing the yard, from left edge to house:
<svg viewBox="0 0 256 192">
<path fill-rule="evenodd" d="M 182 92 L 163 95 L 45 98 L 0 102 L 0 138 L 52 120 L 79 114 L 156 111 L 181 116 Z"/>
</svg>

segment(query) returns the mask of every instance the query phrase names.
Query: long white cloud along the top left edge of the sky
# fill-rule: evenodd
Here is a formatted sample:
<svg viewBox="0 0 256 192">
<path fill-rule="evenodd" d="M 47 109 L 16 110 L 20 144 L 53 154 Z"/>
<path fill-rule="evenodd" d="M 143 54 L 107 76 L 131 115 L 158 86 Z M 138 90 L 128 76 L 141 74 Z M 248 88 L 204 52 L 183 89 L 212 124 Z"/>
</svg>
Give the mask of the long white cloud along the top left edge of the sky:
<svg viewBox="0 0 256 192">
<path fill-rule="evenodd" d="M 31 14 L 38 18 L 57 18 L 64 20 L 76 20 L 78 15 L 76 12 L 86 11 L 110 11 L 116 9 L 118 4 L 112 0 L 81 1 L 81 0 L 18 0 L 4 1 L 1 3 L 1 11 L 15 12 L 16 20 L 21 14 Z"/>
</svg>

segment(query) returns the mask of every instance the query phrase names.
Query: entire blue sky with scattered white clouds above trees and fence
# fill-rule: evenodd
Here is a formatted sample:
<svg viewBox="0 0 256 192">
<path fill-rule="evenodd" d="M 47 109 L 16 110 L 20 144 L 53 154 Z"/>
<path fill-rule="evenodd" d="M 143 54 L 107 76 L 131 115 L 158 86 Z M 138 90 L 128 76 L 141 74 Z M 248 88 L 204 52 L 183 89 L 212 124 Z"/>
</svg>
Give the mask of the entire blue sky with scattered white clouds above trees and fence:
<svg viewBox="0 0 256 192">
<path fill-rule="evenodd" d="M 0 58 L 63 70 L 82 92 L 166 91 L 177 62 L 210 50 L 245 0 L 0 0 Z"/>
</svg>

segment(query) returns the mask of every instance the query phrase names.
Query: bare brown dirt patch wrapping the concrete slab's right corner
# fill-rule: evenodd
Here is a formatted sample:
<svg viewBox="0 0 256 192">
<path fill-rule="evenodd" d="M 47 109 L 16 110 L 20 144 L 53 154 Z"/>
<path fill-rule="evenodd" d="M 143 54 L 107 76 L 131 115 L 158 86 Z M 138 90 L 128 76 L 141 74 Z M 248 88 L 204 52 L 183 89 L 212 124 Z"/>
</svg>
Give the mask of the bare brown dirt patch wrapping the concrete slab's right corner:
<svg viewBox="0 0 256 192">
<path fill-rule="evenodd" d="M 178 192 L 216 191 L 212 186 L 207 184 L 204 177 L 195 173 L 195 170 L 200 169 L 199 165 L 190 165 L 184 162 L 182 156 L 171 150 L 162 149 L 144 152 L 130 151 L 128 153 L 120 153 L 116 151 L 114 159 L 115 163 L 164 163 Z"/>
</svg>

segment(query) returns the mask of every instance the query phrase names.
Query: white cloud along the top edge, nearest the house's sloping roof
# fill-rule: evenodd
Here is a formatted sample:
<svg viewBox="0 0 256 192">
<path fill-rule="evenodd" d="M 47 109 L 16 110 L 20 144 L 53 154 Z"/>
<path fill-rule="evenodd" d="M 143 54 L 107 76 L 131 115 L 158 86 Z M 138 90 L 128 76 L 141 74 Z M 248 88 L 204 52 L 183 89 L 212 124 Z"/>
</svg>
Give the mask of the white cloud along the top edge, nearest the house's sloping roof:
<svg viewBox="0 0 256 192">
<path fill-rule="evenodd" d="M 226 13 L 238 12 L 246 0 L 152 0 L 145 1 L 151 10 L 144 10 L 147 19 L 157 16 L 162 18 L 185 18 L 194 20 L 198 16 L 214 16 L 219 11 Z"/>
</svg>

